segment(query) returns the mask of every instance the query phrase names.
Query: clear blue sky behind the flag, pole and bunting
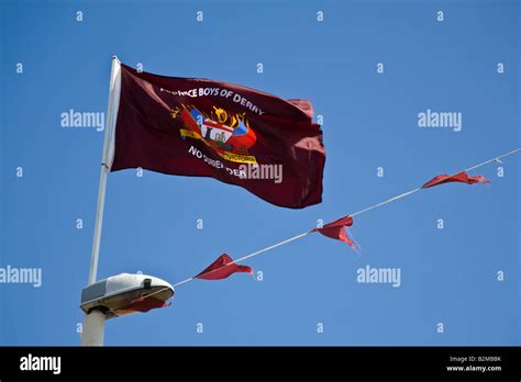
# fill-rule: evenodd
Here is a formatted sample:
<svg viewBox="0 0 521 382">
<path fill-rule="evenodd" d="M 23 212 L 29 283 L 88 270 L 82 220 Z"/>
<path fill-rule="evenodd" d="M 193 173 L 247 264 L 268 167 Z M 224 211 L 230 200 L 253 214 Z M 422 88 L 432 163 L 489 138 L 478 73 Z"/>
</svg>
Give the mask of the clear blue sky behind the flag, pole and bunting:
<svg viewBox="0 0 521 382">
<path fill-rule="evenodd" d="M 43 271 L 41 288 L 0 284 L 0 345 L 79 344 L 103 133 L 64 128 L 60 114 L 106 111 L 113 54 L 145 71 L 307 98 L 324 116 L 328 158 L 323 203 L 301 211 L 213 179 L 109 175 L 99 278 L 175 283 L 224 251 L 239 258 L 520 146 L 516 1 L 3 0 L 0 10 L 0 267 Z M 461 112 L 462 131 L 419 128 L 426 109 Z M 109 321 L 106 344 L 519 345 L 519 165 L 477 171 L 489 186 L 445 184 L 355 218 L 359 257 L 314 234 L 247 261 L 264 281 L 181 285 L 168 308 Z M 356 282 L 366 265 L 400 268 L 400 288 Z"/>
</svg>

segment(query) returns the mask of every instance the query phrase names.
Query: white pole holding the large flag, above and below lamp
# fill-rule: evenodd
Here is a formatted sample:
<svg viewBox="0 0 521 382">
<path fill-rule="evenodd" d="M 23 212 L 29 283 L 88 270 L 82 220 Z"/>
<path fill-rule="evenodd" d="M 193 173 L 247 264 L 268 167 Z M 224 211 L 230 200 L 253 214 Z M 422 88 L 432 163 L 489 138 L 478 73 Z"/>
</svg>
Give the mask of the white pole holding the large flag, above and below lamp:
<svg viewBox="0 0 521 382">
<path fill-rule="evenodd" d="M 103 225 L 103 207 L 104 194 L 107 190 L 107 175 L 112 165 L 113 144 L 114 144 L 114 127 L 118 116 L 120 90 L 121 90 L 121 75 L 120 60 L 118 57 L 112 57 L 112 68 L 110 72 L 110 88 L 109 88 L 109 104 L 107 110 L 103 153 L 101 156 L 100 182 L 98 190 L 98 203 L 96 207 L 95 235 L 92 239 L 92 252 L 90 259 L 89 285 L 96 282 L 98 273 L 98 260 L 100 254 L 101 227 Z M 103 346 L 104 338 L 104 312 L 93 310 L 89 312 L 84 319 L 81 330 L 82 346 Z"/>
</svg>

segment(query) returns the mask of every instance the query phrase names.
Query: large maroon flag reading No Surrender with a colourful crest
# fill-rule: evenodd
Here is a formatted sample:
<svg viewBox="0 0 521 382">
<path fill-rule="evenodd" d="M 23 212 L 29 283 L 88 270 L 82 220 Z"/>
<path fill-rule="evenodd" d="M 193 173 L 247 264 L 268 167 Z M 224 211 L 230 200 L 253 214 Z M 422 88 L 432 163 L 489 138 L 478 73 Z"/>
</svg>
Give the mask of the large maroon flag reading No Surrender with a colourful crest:
<svg viewBox="0 0 521 382">
<path fill-rule="evenodd" d="M 309 101 L 123 64 L 119 81 L 111 171 L 210 177 L 291 209 L 322 201 L 325 149 Z"/>
</svg>

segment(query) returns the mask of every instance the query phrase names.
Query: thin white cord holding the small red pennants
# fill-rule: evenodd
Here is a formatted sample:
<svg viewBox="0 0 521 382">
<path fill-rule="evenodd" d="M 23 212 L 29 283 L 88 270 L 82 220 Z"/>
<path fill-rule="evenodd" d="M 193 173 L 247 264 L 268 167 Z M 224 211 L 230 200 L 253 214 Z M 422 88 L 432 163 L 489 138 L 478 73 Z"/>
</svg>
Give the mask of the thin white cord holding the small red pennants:
<svg viewBox="0 0 521 382">
<path fill-rule="evenodd" d="M 467 169 L 465 169 L 465 170 L 457 171 L 457 172 L 451 175 L 450 177 L 454 177 L 454 176 L 456 176 L 456 175 L 459 173 L 459 172 L 467 172 L 467 171 L 475 170 L 475 169 L 477 169 L 477 168 L 479 168 L 479 167 L 489 165 L 489 164 L 491 164 L 491 162 L 501 162 L 501 161 L 500 161 L 501 158 L 508 157 L 508 156 L 510 156 L 510 155 L 512 155 L 512 154 L 517 154 L 517 153 L 519 153 L 519 151 L 521 151 L 521 147 L 520 147 L 520 148 L 517 148 L 517 149 L 513 149 L 513 150 L 511 150 L 511 151 L 509 151 L 509 153 L 502 154 L 502 155 L 500 155 L 500 156 L 494 157 L 492 159 L 485 160 L 485 161 L 483 161 L 483 162 L 480 162 L 480 164 L 478 164 L 478 165 L 472 166 L 472 167 L 469 167 L 469 168 L 467 168 Z M 440 180 L 433 182 L 432 186 L 435 186 L 435 184 L 440 183 L 442 180 L 443 180 L 443 179 L 440 179 Z M 346 216 L 353 217 L 353 216 L 356 216 L 356 215 L 362 215 L 362 214 L 364 214 L 364 213 L 366 213 L 366 212 L 368 212 L 368 211 L 370 211 L 370 210 L 378 209 L 378 207 L 384 206 L 384 205 L 386 205 L 386 204 L 396 202 L 397 200 L 407 198 L 407 196 L 409 196 L 409 195 L 411 195 L 411 194 L 413 194 L 413 193 L 415 193 L 415 192 L 418 192 L 418 191 L 421 191 L 421 190 L 423 190 L 421 187 L 415 188 L 415 189 L 413 189 L 413 190 L 410 190 L 410 191 L 400 193 L 399 195 L 389 198 L 389 199 L 387 199 L 387 200 L 385 200 L 385 201 L 383 201 L 383 202 L 373 204 L 373 205 L 370 205 L 370 206 L 368 206 L 368 207 L 365 207 L 365 209 L 363 209 L 363 210 L 361 210 L 361 211 L 357 211 L 357 212 L 355 212 L 355 213 L 353 213 L 353 214 L 348 214 L 348 215 L 346 215 Z M 309 235 L 309 234 L 312 234 L 312 233 L 314 233 L 314 232 L 315 232 L 315 231 L 310 229 L 310 231 L 307 231 L 307 232 L 301 233 L 301 234 L 299 234 L 299 235 L 292 236 L 292 237 L 290 237 L 290 238 L 288 238 L 288 239 L 286 239 L 286 240 L 276 243 L 276 244 L 270 245 L 270 246 L 265 247 L 265 248 L 262 248 L 262 249 L 259 249 L 259 250 L 257 250 L 257 251 L 255 251 L 255 252 L 253 252 L 253 254 L 243 256 L 243 257 L 241 257 L 241 258 L 234 260 L 233 262 L 228 263 L 228 265 L 225 265 L 225 266 L 223 266 L 223 267 L 221 267 L 221 268 L 218 268 L 218 269 L 214 269 L 214 270 L 212 270 L 212 271 L 209 271 L 207 274 L 212 273 L 212 272 L 214 272 L 214 271 L 217 271 L 217 270 L 220 270 L 220 269 L 222 269 L 222 268 L 224 268 L 224 267 L 228 267 L 228 266 L 230 266 L 230 265 L 232 265 L 232 263 L 239 265 L 240 261 L 244 261 L 244 260 L 246 260 L 246 259 L 248 259 L 248 258 L 252 258 L 252 257 L 255 257 L 255 256 L 257 256 L 257 255 L 264 254 L 264 252 L 266 252 L 266 251 L 268 251 L 268 250 L 271 250 L 271 249 L 274 249 L 274 248 L 277 248 L 277 247 L 280 247 L 280 246 L 285 245 L 285 244 L 288 244 L 288 243 L 290 243 L 290 241 L 293 241 L 293 240 L 297 240 L 297 239 L 299 239 L 299 238 L 302 238 L 302 237 L 304 237 L 304 236 L 307 236 L 307 235 Z M 185 283 L 187 283 L 187 282 L 189 282 L 189 281 L 192 281 L 192 280 L 195 280 L 195 277 L 191 277 L 191 278 L 188 278 L 188 279 L 186 279 L 186 280 L 179 281 L 179 282 L 175 283 L 173 286 L 176 288 L 176 286 L 178 286 L 178 285 L 185 284 Z"/>
</svg>

